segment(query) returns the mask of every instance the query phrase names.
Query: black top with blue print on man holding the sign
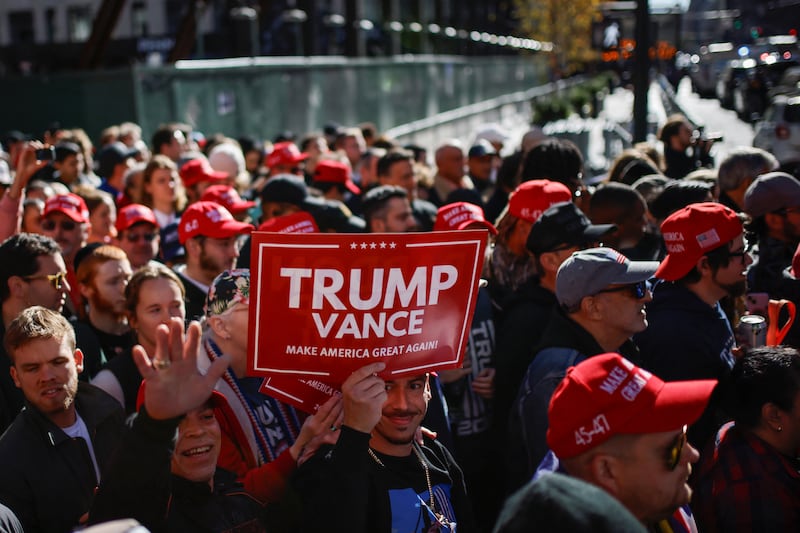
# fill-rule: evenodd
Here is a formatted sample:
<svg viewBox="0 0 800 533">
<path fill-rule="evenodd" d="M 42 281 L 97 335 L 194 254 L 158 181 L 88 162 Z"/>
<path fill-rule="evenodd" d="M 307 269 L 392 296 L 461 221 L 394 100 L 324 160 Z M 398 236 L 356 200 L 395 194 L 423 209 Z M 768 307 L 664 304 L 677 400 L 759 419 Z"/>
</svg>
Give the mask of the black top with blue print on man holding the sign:
<svg viewBox="0 0 800 533">
<path fill-rule="evenodd" d="M 429 517 L 420 503 L 427 504 L 428 487 L 418 458 L 414 453 L 408 457 L 376 453 L 381 466 L 369 455 L 369 440 L 369 434 L 344 426 L 336 446 L 321 447 L 296 471 L 303 531 L 428 531 Z M 459 533 L 476 531 L 461 469 L 453 457 L 436 441 L 417 449 L 428 464 L 437 510 L 444 507 L 448 515 L 455 515 Z"/>
</svg>

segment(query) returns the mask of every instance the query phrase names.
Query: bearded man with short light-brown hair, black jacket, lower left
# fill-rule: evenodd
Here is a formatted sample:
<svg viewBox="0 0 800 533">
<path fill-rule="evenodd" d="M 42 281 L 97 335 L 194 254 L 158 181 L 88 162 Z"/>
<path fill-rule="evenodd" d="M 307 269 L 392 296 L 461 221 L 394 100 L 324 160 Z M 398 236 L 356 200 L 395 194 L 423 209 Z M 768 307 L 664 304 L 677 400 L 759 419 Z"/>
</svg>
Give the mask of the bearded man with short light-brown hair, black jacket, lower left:
<svg viewBox="0 0 800 533">
<path fill-rule="evenodd" d="M 78 383 L 83 354 L 57 312 L 25 309 L 4 342 L 26 407 L 0 437 L 0 502 L 25 531 L 72 531 L 85 523 L 121 440 L 122 409 L 100 389 Z"/>
</svg>

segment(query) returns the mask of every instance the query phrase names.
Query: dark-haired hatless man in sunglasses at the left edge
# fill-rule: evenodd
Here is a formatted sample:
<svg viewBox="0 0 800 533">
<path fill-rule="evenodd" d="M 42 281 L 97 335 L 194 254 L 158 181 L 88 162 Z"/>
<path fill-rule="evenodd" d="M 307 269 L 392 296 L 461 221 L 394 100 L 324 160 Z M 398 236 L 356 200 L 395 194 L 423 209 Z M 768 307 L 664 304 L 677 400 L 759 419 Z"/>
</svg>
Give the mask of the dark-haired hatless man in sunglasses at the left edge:
<svg viewBox="0 0 800 533">
<path fill-rule="evenodd" d="M 0 338 L 9 324 L 26 308 L 40 305 L 61 312 L 70 285 L 67 267 L 51 238 L 17 233 L 0 244 Z M 11 360 L 0 345 L 0 433 L 22 409 L 22 392 L 11 380 Z"/>
</svg>

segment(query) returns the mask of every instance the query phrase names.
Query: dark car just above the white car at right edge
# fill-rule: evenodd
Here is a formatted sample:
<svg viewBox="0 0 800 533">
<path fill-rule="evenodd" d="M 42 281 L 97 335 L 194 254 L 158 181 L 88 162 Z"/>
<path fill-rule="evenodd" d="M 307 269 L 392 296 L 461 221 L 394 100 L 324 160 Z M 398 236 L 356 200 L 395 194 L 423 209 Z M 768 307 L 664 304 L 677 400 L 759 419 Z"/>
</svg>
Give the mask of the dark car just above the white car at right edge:
<svg viewBox="0 0 800 533">
<path fill-rule="evenodd" d="M 745 70 L 745 76 L 733 87 L 733 109 L 746 122 L 758 120 L 770 102 L 769 91 L 797 60 L 783 61 L 768 55 L 765 60 Z"/>
</svg>

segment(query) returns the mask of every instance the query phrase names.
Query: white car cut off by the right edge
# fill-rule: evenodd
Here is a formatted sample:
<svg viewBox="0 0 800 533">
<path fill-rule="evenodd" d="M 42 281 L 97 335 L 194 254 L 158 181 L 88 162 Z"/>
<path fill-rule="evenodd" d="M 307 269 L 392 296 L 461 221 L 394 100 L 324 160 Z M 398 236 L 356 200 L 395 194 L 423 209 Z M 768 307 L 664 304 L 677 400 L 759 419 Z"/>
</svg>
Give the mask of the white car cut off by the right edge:
<svg viewBox="0 0 800 533">
<path fill-rule="evenodd" d="M 756 124 L 753 146 L 772 153 L 781 166 L 800 162 L 800 91 L 775 97 Z"/>
</svg>

